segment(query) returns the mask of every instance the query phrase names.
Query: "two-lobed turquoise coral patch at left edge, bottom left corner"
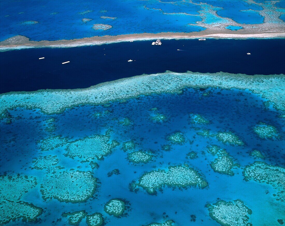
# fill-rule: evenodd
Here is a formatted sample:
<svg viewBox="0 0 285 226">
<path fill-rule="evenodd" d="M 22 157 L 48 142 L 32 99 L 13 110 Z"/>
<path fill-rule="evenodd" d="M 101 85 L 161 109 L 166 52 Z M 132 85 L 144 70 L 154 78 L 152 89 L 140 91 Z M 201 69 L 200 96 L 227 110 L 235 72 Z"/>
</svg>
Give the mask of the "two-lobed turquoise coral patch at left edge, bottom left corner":
<svg viewBox="0 0 285 226">
<path fill-rule="evenodd" d="M 36 185 L 35 177 L 19 174 L 0 176 L 0 225 L 19 218 L 24 222 L 36 222 L 42 208 L 21 201 L 21 197 Z"/>
</svg>

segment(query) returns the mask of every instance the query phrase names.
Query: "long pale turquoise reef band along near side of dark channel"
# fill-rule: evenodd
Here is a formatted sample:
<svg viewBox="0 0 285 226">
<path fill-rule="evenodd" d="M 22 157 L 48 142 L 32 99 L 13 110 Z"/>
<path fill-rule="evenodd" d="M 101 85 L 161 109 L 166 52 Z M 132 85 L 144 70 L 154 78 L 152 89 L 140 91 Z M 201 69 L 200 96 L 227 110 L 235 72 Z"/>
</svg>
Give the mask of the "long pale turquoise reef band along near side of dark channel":
<svg viewBox="0 0 285 226">
<path fill-rule="evenodd" d="M 194 72 L 165 72 L 105 82 L 87 89 L 39 90 L 10 92 L 0 95 L 0 119 L 7 110 L 23 107 L 40 109 L 45 114 L 61 113 L 79 105 L 99 105 L 112 101 L 137 98 L 141 95 L 181 93 L 185 87 L 219 87 L 222 89 L 249 89 L 268 99 L 273 107 L 285 111 L 284 75 L 201 74 Z"/>
</svg>

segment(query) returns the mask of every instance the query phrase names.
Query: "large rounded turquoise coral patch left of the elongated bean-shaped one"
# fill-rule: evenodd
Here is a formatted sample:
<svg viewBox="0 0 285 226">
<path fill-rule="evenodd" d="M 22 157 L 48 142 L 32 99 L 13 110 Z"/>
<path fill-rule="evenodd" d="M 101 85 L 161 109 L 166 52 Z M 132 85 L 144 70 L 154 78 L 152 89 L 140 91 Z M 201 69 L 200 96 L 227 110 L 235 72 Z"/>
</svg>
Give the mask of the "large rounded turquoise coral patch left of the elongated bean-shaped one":
<svg viewBox="0 0 285 226">
<path fill-rule="evenodd" d="M 44 200 L 55 198 L 60 202 L 85 202 L 95 193 L 97 179 L 87 171 L 60 171 L 45 174 L 40 192 Z"/>
</svg>

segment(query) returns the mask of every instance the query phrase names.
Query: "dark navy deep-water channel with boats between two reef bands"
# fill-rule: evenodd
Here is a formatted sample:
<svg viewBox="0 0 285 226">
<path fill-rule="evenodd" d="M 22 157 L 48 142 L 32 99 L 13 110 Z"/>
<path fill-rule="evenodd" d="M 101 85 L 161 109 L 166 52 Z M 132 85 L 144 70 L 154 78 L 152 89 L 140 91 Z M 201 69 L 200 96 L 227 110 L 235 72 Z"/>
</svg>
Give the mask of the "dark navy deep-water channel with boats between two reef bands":
<svg viewBox="0 0 285 226">
<path fill-rule="evenodd" d="M 284 39 L 162 40 L 161 46 L 151 42 L 1 52 L 0 93 L 87 88 L 166 70 L 285 74 Z M 127 62 L 129 59 L 133 62 Z M 62 65 L 65 61 L 70 63 Z"/>
</svg>

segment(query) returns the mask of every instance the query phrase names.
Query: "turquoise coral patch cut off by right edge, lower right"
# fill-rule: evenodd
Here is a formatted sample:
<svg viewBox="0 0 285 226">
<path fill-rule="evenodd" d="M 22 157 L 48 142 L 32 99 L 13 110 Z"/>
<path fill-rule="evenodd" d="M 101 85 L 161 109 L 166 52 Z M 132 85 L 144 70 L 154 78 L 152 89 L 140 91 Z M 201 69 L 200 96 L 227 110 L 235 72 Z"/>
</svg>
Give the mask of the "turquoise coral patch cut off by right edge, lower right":
<svg viewBox="0 0 285 226">
<path fill-rule="evenodd" d="M 270 184 L 277 192 L 273 195 L 276 200 L 285 202 L 285 168 L 255 161 L 244 168 L 243 177 L 245 181 Z"/>
</svg>

